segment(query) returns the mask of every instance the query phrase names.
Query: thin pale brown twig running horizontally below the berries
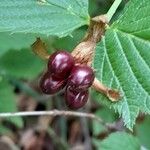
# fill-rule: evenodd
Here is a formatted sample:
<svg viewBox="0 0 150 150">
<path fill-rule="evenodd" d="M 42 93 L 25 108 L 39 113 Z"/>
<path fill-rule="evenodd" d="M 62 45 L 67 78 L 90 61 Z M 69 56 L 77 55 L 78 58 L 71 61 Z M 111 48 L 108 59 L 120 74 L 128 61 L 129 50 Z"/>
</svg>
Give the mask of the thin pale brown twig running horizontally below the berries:
<svg viewBox="0 0 150 150">
<path fill-rule="evenodd" d="M 23 111 L 23 112 L 7 112 L 0 113 L 0 118 L 5 117 L 16 117 L 16 116 L 74 116 L 74 117 L 86 117 L 90 119 L 95 119 L 102 124 L 105 124 L 103 120 L 92 113 L 83 113 L 83 112 L 75 112 L 75 111 L 64 111 L 64 110 L 51 110 L 51 111 Z"/>
</svg>

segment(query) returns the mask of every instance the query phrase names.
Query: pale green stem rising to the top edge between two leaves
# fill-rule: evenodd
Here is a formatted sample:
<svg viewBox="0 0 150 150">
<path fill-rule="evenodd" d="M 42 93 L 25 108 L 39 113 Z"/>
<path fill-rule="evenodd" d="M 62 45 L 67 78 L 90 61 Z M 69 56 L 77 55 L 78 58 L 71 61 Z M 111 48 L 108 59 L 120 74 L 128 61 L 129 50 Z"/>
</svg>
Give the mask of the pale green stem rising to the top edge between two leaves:
<svg viewBox="0 0 150 150">
<path fill-rule="evenodd" d="M 112 4 L 112 6 L 110 7 L 110 9 L 108 10 L 108 12 L 106 14 L 108 22 L 111 20 L 111 18 L 115 14 L 115 12 L 121 2 L 122 2 L 122 0 L 115 0 L 114 3 Z"/>
</svg>

